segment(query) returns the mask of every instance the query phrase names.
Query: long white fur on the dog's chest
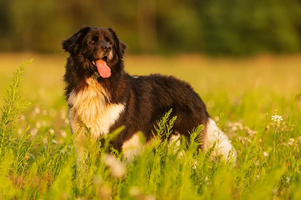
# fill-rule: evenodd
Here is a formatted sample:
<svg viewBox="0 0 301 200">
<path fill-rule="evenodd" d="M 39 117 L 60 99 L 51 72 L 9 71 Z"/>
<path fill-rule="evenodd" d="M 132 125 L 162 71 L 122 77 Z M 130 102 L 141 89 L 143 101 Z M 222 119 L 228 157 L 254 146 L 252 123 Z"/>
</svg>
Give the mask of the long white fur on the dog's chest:
<svg viewBox="0 0 301 200">
<path fill-rule="evenodd" d="M 79 92 L 73 90 L 68 97 L 69 123 L 72 132 L 76 132 L 81 126 L 78 119 L 80 116 L 86 126 L 91 128 L 92 138 L 97 139 L 109 132 L 110 126 L 118 119 L 125 106 L 106 103 L 105 99 L 110 99 L 110 95 L 94 78 L 88 78 L 87 83 L 88 87 Z M 78 139 L 83 136 L 82 128 Z"/>
</svg>

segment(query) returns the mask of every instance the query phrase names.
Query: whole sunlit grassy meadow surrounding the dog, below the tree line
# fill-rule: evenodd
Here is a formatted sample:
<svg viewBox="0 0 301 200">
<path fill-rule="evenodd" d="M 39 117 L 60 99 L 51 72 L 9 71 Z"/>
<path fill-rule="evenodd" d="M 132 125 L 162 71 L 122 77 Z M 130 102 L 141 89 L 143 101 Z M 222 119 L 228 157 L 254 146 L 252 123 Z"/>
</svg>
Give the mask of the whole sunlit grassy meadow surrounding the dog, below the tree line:
<svg viewBox="0 0 301 200">
<path fill-rule="evenodd" d="M 191 83 L 230 136 L 237 164 L 212 161 L 210 151 L 195 154 L 193 138 L 200 127 L 185 156 L 177 158 L 184 140 L 178 150 L 154 141 L 128 165 L 119 161 L 122 153 L 115 152 L 112 159 L 106 145 L 93 148 L 87 141 L 77 170 L 63 94 L 65 56 L 0 55 L 1 94 L 8 88 L 16 91 L 9 92 L 7 102 L 0 99 L 7 107 L 0 126 L 1 199 L 301 198 L 299 56 L 127 56 L 125 67 L 131 74 L 173 74 Z M 18 87 L 8 85 L 19 63 L 29 58 L 34 61 L 22 75 L 24 99 L 19 101 Z M 24 102 L 31 105 L 22 110 Z M 283 121 L 274 123 L 274 114 Z M 173 119 L 163 121 L 159 134 L 170 131 L 165 125 Z"/>
</svg>

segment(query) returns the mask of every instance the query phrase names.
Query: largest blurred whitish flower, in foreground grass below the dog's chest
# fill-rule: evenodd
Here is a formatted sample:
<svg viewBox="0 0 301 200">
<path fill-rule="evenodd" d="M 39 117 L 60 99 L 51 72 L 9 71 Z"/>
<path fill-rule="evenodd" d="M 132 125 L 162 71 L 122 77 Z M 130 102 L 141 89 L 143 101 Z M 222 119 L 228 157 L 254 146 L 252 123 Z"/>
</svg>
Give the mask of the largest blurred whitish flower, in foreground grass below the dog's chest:
<svg viewBox="0 0 301 200">
<path fill-rule="evenodd" d="M 110 167 L 111 174 L 115 177 L 121 177 L 125 173 L 125 168 L 120 160 L 106 153 L 102 157 L 103 162 Z"/>
</svg>

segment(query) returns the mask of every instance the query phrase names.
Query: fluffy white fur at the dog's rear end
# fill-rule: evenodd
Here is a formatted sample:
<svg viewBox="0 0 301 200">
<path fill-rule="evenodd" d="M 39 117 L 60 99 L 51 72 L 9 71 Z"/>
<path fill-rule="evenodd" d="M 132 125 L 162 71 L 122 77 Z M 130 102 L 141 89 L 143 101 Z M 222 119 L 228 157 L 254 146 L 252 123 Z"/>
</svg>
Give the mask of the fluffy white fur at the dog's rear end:
<svg viewBox="0 0 301 200">
<path fill-rule="evenodd" d="M 236 150 L 231 144 L 229 137 L 217 127 L 216 122 L 212 118 L 209 118 L 207 122 L 205 136 L 205 149 L 211 148 L 215 143 L 212 152 L 213 158 L 222 155 L 227 160 L 232 159 L 233 163 L 236 163 Z"/>
</svg>

